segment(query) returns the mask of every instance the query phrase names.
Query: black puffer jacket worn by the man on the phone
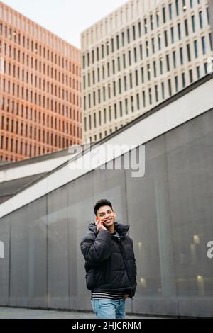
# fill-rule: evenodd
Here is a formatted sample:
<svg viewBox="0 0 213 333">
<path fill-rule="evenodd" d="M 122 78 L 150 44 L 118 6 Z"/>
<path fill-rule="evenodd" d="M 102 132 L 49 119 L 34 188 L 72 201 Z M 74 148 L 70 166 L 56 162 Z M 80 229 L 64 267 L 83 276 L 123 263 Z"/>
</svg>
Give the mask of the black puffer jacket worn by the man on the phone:
<svg viewBox="0 0 213 333">
<path fill-rule="evenodd" d="M 133 241 L 126 232 L 129 225 L 115 223 L 120 237 L 107 230 L 97 231 L 95 223 L 80 244 L 84 255 L 87 289 L 95 291 L 124 290 L 133 297 L 136 292 L 136 260 Z"/>
</svg>

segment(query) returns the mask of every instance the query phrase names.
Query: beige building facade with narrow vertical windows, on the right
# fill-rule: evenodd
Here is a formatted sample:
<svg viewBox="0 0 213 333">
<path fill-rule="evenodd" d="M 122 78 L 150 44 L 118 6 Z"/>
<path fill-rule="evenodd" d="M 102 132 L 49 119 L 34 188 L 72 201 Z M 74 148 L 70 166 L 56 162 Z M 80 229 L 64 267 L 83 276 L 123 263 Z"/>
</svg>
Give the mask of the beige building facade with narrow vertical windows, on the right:
<svg viewBox="0 0 213 333">
<path fill-rule="evenodd" d="M 208 74 L 211 17 L 207 0 L 132 0 L 84 30 L 83 142 L 101 140 Z"/>
</svg>

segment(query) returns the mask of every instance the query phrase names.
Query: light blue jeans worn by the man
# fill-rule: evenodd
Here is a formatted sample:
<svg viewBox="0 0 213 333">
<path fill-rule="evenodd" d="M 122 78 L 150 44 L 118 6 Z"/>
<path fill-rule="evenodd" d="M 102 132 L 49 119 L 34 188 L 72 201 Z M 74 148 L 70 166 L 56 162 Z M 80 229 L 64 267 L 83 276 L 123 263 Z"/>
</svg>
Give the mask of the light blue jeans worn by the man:
<svg viewBox="0 0 213 333">
<path fill-rule="evenodd" d="M 98 319 L 124 319 L 125 300 L 108 300 L 105 298 L 91 300 L 92 309 Z"/>
</svg>

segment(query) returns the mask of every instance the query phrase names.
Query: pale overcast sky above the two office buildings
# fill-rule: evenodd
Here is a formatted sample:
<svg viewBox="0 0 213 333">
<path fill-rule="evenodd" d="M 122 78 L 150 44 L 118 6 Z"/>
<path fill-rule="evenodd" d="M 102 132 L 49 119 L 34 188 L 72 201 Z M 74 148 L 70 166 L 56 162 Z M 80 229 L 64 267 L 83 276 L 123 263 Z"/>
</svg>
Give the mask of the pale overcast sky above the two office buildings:
<svg viewBox="0 0 213 333">
<path fill-rule="evenodd" d="M 72 45 L 80 47 L 80 33 L 126 0 L 3 0 Z"/>
</svg>

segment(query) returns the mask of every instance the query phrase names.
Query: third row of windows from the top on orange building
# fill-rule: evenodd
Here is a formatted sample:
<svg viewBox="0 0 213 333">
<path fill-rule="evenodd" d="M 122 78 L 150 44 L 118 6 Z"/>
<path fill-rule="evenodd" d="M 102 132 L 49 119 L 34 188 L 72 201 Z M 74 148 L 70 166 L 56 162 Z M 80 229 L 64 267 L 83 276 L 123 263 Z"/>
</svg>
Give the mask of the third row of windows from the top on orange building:
<svg viewBox="0 0 213 333">
<path fill-rule="evenodd" d="M 72 87 L 73 89 L 80 90 L 80 80 L 74 77 L 68 77 L 67 74 L 60 72 L 60 70 L 54 69 L 48 64 L 42 63 L 34 57 L 30 57 L 30 55 L 26 55 L 26 53 L 21 52 L 21 50 L 16 50 L 16 48 L 11 47 L 11 45 L 7 45 L 6 43 L 2 44 L 0 40 L 0 56 L 1 54 L 7 59 L 10 57 L 12 60 L 22 62 L 25 67 L 30 67 L 31 69 L 38 71 L 40 74 L 45 75 L 45 77 L 55 79 L 55 81 L 62 84 L 70 84 L 70 88 Z M 13 67 L 14 66 L 15 65 L 13 65 Z M 4 62 L 4 67 L 6 67 L 6 62 Z"/>
</svg>

